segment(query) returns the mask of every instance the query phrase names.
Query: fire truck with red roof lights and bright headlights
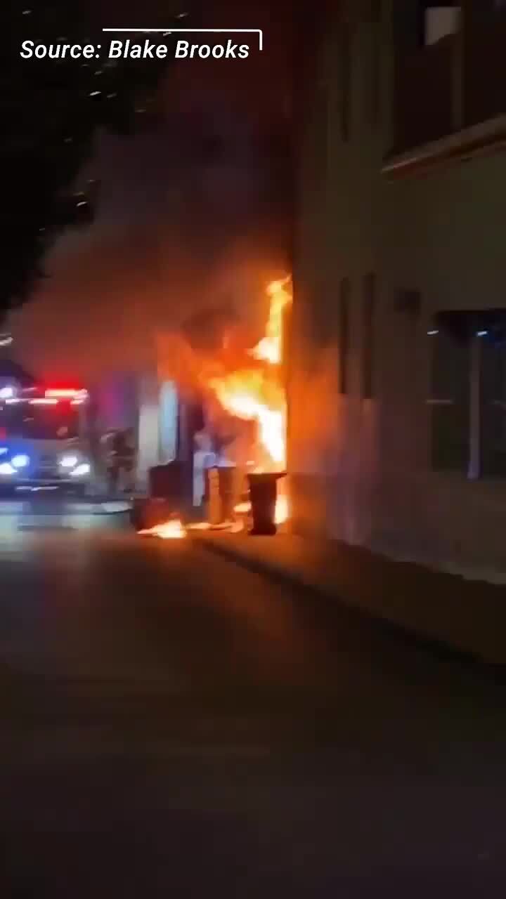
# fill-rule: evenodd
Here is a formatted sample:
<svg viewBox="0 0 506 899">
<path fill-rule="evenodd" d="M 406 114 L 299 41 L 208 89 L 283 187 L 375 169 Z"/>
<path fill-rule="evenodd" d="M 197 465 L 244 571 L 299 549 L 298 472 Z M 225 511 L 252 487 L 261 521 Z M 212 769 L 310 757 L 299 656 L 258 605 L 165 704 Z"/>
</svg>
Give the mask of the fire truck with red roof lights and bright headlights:
<svg viewBox="0 0 506 899">
<path fill-rule="evenodd" d="M 0 385 L 0 491 L 91 491 L 87 401 L 77 387 Z"/>
</svg>

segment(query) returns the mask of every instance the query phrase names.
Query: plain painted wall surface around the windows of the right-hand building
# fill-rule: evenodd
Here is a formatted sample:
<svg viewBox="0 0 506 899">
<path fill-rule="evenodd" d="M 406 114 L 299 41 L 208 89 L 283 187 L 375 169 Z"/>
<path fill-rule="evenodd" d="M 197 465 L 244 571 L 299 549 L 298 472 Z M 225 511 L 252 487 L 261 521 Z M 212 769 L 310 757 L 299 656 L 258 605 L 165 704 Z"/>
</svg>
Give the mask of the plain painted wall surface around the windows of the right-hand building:
<svg viewBox="0 0 506 899">
<path fill-rule="evenodd" d="M 506 567 L 506 485 L 471 484 L 429 469 L 427 330 L 437 309 L 506 306 L 506 155 L 386 181 L 388 15 L 376 126 L 366 115 L 374 28 L 362 22 L 354 31 L 350 140 L 344 143 L 339 133 L 339 45 L 332 27 L 320 55 L 326 102 L 314 98 L 305 134 L 290 342 L 294 528 L 438 567 L 494 572 Z M 327 129 L 316 115 L 325 108 Z M 375 398 L 365 401 L 360 291 L 369 271 L 378 284 Z M 351 358 L 349 392 L 340 396 L 344 277 L 351 282 Z M 396 308 L 402 289 L 420 291 L 419 316 Z"/>
</svg>

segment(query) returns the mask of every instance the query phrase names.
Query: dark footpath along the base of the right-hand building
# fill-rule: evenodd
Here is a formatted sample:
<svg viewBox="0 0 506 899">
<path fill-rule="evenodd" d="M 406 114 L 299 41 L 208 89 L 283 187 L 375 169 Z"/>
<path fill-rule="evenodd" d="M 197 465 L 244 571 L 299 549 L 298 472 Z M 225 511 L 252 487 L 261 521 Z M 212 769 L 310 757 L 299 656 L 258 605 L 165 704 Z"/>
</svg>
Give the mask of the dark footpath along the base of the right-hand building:
<svg viewBox="0 0 506 899">
<path fill-rule="evenodd" d="M 341 601 L 431 645 L 506 664 L 506 586 L 396 562 L 337 540 L 208 531 L 206 549 Z"/>
</svg>

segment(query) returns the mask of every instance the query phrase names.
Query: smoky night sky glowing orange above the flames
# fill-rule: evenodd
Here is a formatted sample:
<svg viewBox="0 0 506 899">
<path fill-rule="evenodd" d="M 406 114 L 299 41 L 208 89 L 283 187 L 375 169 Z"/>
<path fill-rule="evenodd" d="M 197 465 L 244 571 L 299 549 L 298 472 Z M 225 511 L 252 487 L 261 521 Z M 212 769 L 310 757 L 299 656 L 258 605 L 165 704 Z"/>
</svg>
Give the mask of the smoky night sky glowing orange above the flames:
<svg viewBox="0 0 506 899">
<path fill-rule="evenodd" d="M 18 354 L 39 374 L 144 365 L 157 328 L 202 310 L 255 335 L 263 325 L 262 285 L 287 265 L 292 4 L 207 5 L 204 26 L 263 28 L 264 53 L 172 63 L 161 128 L 97 138 L 80 176 L 102 182 L 95 223 L 59 240 L 50 279 L 14 318 Z"/>
</svg>

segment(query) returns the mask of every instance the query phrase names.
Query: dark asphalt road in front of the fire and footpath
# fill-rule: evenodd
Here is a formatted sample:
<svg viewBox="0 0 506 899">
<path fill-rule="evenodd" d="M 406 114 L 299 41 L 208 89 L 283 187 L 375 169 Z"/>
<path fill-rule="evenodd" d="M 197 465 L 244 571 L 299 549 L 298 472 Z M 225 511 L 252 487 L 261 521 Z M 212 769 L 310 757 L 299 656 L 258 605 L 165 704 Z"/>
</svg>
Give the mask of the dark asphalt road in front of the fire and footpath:
<svg viewBox="0 0 506 899">
<path fill-rule="evenodd" d="M 501 895 L 505 691 L 191 540 L 0 532 L 0 895 Z"/>
</svg>

